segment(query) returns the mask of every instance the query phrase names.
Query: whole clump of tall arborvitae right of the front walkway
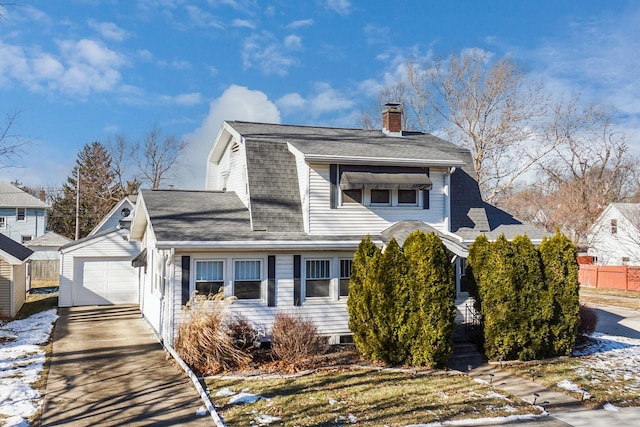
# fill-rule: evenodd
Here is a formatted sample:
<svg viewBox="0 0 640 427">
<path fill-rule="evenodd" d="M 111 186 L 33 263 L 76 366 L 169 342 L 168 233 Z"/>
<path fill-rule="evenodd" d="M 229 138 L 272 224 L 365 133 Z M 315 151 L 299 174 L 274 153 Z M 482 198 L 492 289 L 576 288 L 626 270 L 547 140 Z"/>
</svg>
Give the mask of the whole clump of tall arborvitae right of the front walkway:
<svg viewBox="0 0 640 427">
<path fill-rule="evenodd" d="M 575 246 L 557 233 L 535 248 L 481 236 L 469 248 L 469 269 L 490 359 L 531 360 L 573 350 L 580 322 Z"/>
</svg>

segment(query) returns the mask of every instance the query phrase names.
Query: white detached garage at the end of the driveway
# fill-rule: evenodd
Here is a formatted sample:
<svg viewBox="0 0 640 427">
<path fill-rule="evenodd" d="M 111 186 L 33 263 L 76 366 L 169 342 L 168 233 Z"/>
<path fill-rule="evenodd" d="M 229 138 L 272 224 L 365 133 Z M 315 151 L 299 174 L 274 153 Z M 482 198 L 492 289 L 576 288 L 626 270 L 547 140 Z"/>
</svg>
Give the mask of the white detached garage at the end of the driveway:
<svg viewBox="0 0 640 427">
<path fill-rule="evenodd" d="M 131 260 L 140 243 L 113 228 L 60 248 L 60 307 L 138 304 L 137 271 Z"/>
</svg>

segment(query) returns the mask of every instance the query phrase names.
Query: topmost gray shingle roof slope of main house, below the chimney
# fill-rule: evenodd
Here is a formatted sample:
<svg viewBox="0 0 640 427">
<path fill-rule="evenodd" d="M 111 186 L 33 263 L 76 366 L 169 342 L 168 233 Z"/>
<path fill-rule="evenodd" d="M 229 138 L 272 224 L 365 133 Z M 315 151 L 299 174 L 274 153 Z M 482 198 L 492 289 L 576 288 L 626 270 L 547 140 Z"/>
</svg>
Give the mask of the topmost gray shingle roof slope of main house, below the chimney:
<svg viewBox="0 0 640 427">
<path fill-rule="evenodd" d="M 411 132 L 400 137 L 379 130 L 342 129 L 265 123 L 227 122 L 245 138 L 290 143 L 306 155 L 419 160 L 459 164 L 464 148 L 433 135 Z"/>
</svg>

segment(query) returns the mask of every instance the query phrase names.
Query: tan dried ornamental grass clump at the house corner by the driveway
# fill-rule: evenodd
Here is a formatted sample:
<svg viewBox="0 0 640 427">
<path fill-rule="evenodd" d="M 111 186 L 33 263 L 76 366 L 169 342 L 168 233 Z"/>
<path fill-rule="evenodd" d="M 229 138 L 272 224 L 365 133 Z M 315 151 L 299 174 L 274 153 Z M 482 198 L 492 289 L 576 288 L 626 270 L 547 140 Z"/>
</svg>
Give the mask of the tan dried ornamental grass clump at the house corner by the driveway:
<svg viewBox="0 0 640 427">
<path fill-rule="evenodd" d="M 251 361 L 246 351 L 234 346 L 229 334 L 227 314 L 231 302 L 217 294 L 206 302 L 192 298 L 187 304 L 189 315 L 178 329 L 174 347 L 182 360 L 202 375 L 246 366 Z"/>
</svg>

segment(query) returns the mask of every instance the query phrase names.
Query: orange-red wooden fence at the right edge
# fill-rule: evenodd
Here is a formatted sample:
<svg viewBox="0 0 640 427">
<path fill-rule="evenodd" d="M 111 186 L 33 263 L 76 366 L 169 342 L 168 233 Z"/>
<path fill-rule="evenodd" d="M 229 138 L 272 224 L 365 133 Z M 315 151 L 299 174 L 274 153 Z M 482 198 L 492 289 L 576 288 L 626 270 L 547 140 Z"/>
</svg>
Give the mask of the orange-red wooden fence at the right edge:
<svg viewBox="0 0 640 427">
<path fill-rule="evenodd" d="M 581 264 L 578 281 L 591 288 L 640 291 L 640 267 Z"/>
</svg>

